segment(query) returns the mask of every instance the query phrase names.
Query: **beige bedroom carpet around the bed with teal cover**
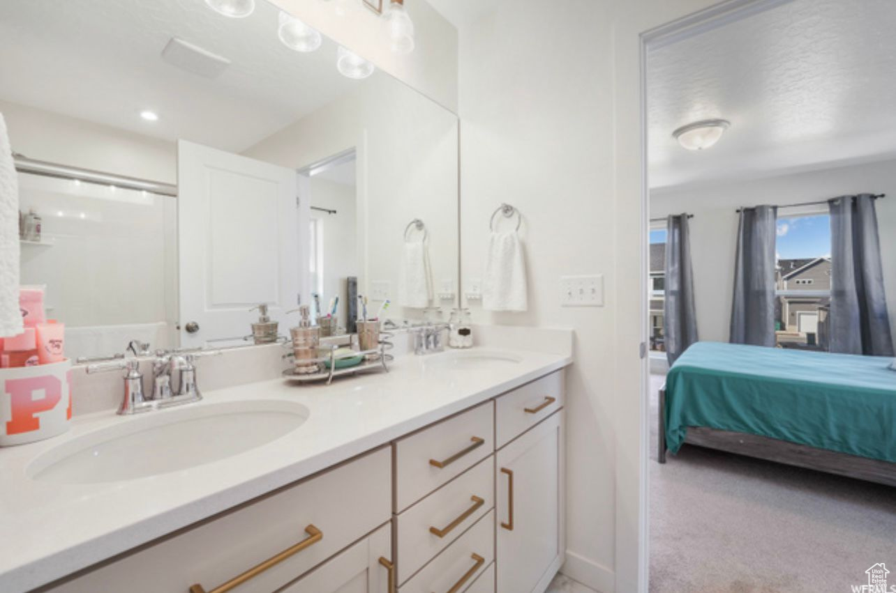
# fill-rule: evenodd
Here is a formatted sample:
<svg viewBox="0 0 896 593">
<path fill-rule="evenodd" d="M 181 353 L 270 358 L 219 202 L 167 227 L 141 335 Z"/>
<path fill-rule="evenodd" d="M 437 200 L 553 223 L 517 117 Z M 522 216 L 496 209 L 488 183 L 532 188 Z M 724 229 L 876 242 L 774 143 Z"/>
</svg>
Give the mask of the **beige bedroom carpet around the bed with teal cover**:
<svg viewBox="0 0 896 593">
<path fill-rule="evenodd" d="M 685 445 L 656 462 L 651 377 L 650 591 L 849 592 L 886 563 L 896 488 Z"/>
</svg>

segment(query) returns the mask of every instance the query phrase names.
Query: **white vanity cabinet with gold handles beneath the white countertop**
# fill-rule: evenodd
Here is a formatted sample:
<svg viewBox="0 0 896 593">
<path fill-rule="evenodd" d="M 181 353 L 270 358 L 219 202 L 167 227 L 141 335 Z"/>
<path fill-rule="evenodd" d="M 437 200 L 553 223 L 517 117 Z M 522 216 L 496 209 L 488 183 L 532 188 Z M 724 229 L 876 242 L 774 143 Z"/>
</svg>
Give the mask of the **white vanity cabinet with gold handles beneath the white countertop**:
<svg viewBox="0 0 896 593">
<path fill-rule="evenodd" d="M 543 593 L 563 405 L 560 370 L 39 590 Z"/>
</svg>

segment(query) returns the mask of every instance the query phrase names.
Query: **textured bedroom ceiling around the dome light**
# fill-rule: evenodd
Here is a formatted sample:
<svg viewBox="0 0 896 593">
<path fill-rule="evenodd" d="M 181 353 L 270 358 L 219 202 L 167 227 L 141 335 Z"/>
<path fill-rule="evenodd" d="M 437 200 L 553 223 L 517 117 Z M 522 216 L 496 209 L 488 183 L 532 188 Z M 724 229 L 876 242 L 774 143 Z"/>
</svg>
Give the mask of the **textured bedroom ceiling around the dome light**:
<svg viewBox="0 0 896 593">
<path fill-rule="evenodd" d="M 794 0 L 648 55 L 650 186 L 896 155 L 896 2 Z M 721 117 L 715 147 L 672 139 Z"/>
</svg>

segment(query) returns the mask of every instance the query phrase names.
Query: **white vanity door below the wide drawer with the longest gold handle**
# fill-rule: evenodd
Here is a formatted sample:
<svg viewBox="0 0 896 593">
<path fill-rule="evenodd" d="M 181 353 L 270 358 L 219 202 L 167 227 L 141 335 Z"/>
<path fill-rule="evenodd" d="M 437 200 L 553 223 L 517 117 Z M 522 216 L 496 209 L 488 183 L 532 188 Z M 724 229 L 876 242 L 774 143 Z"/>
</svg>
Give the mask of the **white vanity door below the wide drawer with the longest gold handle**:
<svg viewBox="0 0 896 593">
<path fill-rule="evenodd" d="M 392 527 L 387 523 L 278 593 L 392 593 Z"/>
</svg>

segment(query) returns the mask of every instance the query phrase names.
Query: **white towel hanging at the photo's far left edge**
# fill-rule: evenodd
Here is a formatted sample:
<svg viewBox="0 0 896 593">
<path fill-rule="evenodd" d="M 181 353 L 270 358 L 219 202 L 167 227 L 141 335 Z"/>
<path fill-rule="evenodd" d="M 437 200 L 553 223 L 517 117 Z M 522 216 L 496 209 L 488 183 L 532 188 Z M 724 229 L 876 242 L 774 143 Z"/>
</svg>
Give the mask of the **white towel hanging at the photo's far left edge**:
<svg viewBox="0 0 896 593">
<path fill-rule="evenodd" d="M 19 180 L 0 114 L 0 336 L 22 334 L 19 309 Z"/>
</svg>

